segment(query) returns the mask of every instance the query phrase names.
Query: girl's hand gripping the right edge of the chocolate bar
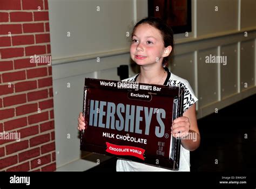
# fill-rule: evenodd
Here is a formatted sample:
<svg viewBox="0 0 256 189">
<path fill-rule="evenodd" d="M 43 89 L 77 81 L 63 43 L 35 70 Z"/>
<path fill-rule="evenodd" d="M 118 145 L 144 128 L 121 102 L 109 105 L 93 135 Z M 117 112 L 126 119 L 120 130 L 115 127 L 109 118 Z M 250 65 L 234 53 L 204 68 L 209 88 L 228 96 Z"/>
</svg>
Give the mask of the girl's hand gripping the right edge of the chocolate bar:
<svg viewBox="0 0 256 189">
<path fill-rule="evenodd" d="M 173 137 L 184 138 L 190 131 L 190 120 L 185 116 L 178 117 L 177 119 L 173 120 L 171 129 Z"/>
</svg>

